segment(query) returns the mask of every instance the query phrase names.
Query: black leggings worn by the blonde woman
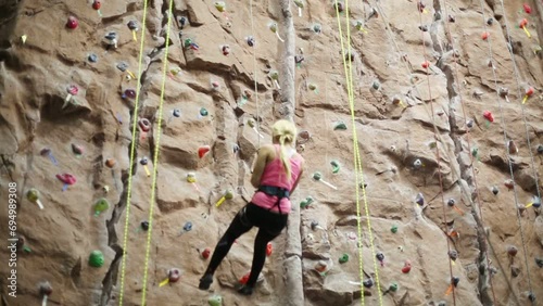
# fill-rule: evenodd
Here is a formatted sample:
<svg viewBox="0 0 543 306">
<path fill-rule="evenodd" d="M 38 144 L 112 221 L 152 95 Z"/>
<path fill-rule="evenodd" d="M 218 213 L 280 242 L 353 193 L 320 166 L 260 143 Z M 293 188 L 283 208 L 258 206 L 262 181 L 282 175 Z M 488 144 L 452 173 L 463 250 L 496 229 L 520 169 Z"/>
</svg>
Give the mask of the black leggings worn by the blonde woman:
<svg viewBox="0 0 543 306">
<path fill-rule="evenodd" d="M 214 275 L 220 262 L 230 251 L 233 241 L 253 227 L 258 228 L 258 233 L 254 240 L 253 265 L 251 266 L 251 277 L 245 285 L 254 286 L 266 262 L 266 246 L 268 242 L 278 237 L 285 226 L 289 215 L 279 215 L 249 203 L 241 208 L 233 218 L 230 227 L 218 241 L 211 257 L 210 266 L 205 273 Z"/>
</svg>

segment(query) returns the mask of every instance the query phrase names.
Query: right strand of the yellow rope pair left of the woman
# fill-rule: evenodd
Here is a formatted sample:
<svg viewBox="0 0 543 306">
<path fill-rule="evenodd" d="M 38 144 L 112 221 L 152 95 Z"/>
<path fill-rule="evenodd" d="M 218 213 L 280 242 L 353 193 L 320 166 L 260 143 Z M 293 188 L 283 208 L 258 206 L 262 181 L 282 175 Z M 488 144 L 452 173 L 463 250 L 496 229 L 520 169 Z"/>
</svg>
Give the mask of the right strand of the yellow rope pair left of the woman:
<svg viewBox="0 0 543 306">
<path fill-rule="evenodd" d="M 157 164 L 159 164 L 159 152 L 161 148 L 161 132 L 162 132 L 162 107 L 164 105 L 164 91 L 166 89 L 166 72 L 167 72 L 167 65 L 168 65 L 168 51 L 169 51 L 169 31 L 172 29 L 172 9 L 174 7 L 174 1 L 169 0 L 169 8 L 167 12 L 168 16 L 168 24 L 167 24 L 167 30 L 166 30 L 166 47 L 164 49 L 164 66 L 163 66 L 163 74 L 162 74 L 162 87 L 161 87 L 161 100 L 159 103 L 159 120 L 156 122 L 157 129 L 156 129 L 156 144 L 154 146 L 154 157 L 153 157 L 153 182 L 151 183 L 151 200 L 149 201 L 149 231 L 147 233 L 147 246 L 146 246 L 146 264 L 144 264 L 144 271 L 143 271 L 143 288 L 142 288 L 142 295 L 141 295 L 141 306 L 146 306 L 146 296 L 147 296 L 147 278 L 148 278 L 148 270 L 149 270 L 149 250 L 151 248 L 151 235 L 152 235 L 152 229 L 153 229 L 153 208 L 154 208 L 154 197 L 156 193 L 156 170 L 157 170 Z"/>
</svg>

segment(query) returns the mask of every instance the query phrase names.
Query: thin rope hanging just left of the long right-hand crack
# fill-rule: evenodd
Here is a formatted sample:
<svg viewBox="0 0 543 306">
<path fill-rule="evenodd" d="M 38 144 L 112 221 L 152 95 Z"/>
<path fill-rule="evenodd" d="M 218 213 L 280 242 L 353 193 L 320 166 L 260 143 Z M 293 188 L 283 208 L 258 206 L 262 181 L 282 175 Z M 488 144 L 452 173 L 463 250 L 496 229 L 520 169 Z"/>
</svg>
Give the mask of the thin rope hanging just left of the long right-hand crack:
<svg viewBox="0 0 543 306">
<path fill-rule="evenodd" d="M 418 3 L 417 3 L 418 5 Z M 420 20 L 420 24 L 422 24 L 422 12 L 421 10 L 419 10 L 417 8 L 417 11 L 418 11 L 418 15 L 419 15 L 419 20 Z M 425 59 L 425 63 L 427 63 L 427 59 L 428 59 L 428 55 L 426 53 L 426 46 L 424 43 L 425 41 L 425 31 L 420 31 L 421 34 L 421 41 L 422 41 L 422 55 L 424 55 L 424 59 Z M 435 126 L 435 112 L 433 111 L 433 101 L 432 101 L 432 90 L 431 90 L 431 85 L 430 85 L 430 75 L 428 73 L 429 71 L 429 66 L 426 67 L 426 79 L 427 79 L 427 82 L 428 82 L 428 97 L 430 99 L 430 111 L 431 111 L 431 117 L 432 117 L 432 123 L 433 123 L 433 136 L 434 138 L 437 139 L 438 138 L 438 127 Z M 424 103 L 424 102 L 422 102 Z M 439 145 L 438 143 L 435 144 L 435 158 L 438 160 L 438 178 L 439 178 L 439 182 L 440 182 L 440 193 L 441 193 L 441 201 L 442 201 L 442 207 L 443 207 L 443 220 L 445 222 L 445 225 L 447 224 L 447 219 L 446 219 L 446 202 L 445 202 L 445 192 L 443 190 L 443 177 L 442 177 L 442 174 L 441 174 L 441 156 L 440 156 L 440 149 L 439 149 Z M 445 238 L 446 240 L 446 250 L 447 250 L 447 254 L 451 252 L 451 242 L 449 241 L 449 238 Z M 451 280 L 454 278 L 454 275 L 453 275 L 453 262 L 452 260 L 447 260 L 449 262 L 449 272 L 451 275 Z M 456 285 L 452 285 L 450 286 L 452 289 L 452 293 L 453 293 L 453 305 L 456 306 Z"/>
</svg>

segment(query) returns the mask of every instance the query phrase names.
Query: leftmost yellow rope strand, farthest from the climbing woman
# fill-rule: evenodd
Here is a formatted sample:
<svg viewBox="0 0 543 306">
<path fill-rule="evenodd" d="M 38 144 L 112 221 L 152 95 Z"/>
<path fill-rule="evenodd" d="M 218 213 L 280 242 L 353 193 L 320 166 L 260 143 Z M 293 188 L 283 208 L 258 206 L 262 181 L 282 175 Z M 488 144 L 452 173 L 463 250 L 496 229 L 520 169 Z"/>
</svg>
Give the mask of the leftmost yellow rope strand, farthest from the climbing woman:
<svg viewBox="0 0 543 306">
<path fill-rule="evenodd" d="M 130 165 L 128 170 L 128 189 L 126 194 L 126 216 L 125 216 L 125 229 L 123 235 L 123 259 L 121 263 L 121 288 L 118 294 L 118 305 L 123 305 L 123 297 L 125 292 L 125 275 L 126 275 L 126 248 L 128 242 L 128 220 L 130 216 L 130 200 L 131 200 L 131 189 L 132 189 L 132 171 L 134 171 L 134 152 L 136 149 L 136 129 L 138 126 L 138 105 L 139 105 L 139 94 L 141 91 L 141 67 L 143 63 L 143 46 L 146 43 L 146 20 L 147 20 L 147 5 L 148 1 L 143 1 L 143 18 L 141 21 L 141 43 L 139 47 L 139 60 L 138 60 L 138 82 L 136 87 L 136 101 L 134 106 L 134 119 L 132 119 L 132 138 L 130 143 Z"/>
</svg>

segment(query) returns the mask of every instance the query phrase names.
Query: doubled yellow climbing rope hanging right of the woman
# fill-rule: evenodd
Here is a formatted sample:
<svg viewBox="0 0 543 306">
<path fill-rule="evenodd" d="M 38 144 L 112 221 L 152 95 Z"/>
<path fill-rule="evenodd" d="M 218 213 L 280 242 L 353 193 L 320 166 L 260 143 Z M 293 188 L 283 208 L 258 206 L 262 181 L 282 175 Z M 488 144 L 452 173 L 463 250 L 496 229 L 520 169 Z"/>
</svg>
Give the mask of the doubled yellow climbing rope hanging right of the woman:
<svg viewBox="0 0 543 306">
<path fill-rule="evenodd" d="M 369 216 L 369 208 L 368 208 L 368 201 L 366 196 L 366 187 L 364 186 L 364 173 L 362 169 L 362 158 L 361 158 L 361 153 L 358 149 L 358 137 L 356 135 L 356 128 L 355 128 L 355 116 L 354 116 L 354 90 L 353 90 L 353 65 L 351 61 L 352 52 L 351 52 L 351 29 L 350 29 L 350 22 L 349 22 L 349 0 L 345 0 L 345 22 L 346 22 L 346 40 L 348 40 L 348 53 L 345 53 L 345 47 L 343 43 L 343 30 L 341 26 L 341 21 L 339 16 L 339 5 L 338 5 L 338 0 L 336 0 L 336 16 L 338 20 L 338 27 L 339 27 L 339 35 L 340 35 L 340 42 L 341 42 L 341 53 L 343 55 L 343 68 L 345 71 L 345 78 L 346 78 L 346 84 L 348 84 L 348 95 L 349 95 L 349 105 L 351 110 L 351 122 L 353 126 L 353 146 L 354 146 L 354 152 L 353 152 L 353 158 L 354 158 L 354 167 L 355 167 L 355 196 L 356 196 L 356 219 L 357 219 L 357 228 L 358 228 L 358 257 L 359 257 L 359 278 L 361 278 L 361 304 L 364 305 L 364 286 L 363 286 L 363 280 L 364 280 L 364 264 L 363 264 L 363 254 L 362 254 L 362 224 L 361 224 L 361 203 L 359 203 L 359 193 L 358 193 L 358 186 L 362 184 L 362 193 L 364 197 L 364 207 L 365 207 L 365 213 L 366 213 L 366 220 L 367 220 L 367 227 L 368 227 L 368 235 L 369 235 L 369 244 L 371 247 L 371 255 L 374 259 L 374 269 L 375 269 L 375 275 L 376 275 L 376 284 L 377 284 L 377 291 L 379 295 L 379 305 L 382 304 L 382 293 L 381 293 L 381 285 L 379 282 L 379 269 L 377 266 L 377 260 L 376 260 L 376 252 L 375 252 L 375 245 L 374 245 L 374 237 L 371 232 L 371 220 Z M 346 56 L 349 56 L 349 68 L 348 68 L 348 61 Z M 359 181 L 358 182 L 358 178 Z"/>
</svg>

